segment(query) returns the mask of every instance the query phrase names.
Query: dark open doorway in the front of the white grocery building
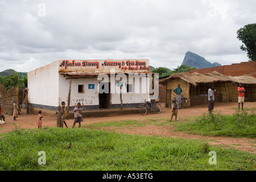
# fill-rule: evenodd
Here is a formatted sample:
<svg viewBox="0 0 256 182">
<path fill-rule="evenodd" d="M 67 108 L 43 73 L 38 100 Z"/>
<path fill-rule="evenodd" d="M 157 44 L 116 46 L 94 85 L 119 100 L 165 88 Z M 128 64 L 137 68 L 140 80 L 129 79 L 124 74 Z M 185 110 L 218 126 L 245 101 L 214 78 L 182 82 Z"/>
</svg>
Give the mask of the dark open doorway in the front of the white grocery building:
<svg viewBox="0 0 256 182">
<path fill-rule="evenodd" d="M 106 87 L 106 88 L 105 88 Z M 100 90 L 104 90 L 103 93 L 98 94 L 98 105 L 100 109 L 111 108 L 110 106 L 110 82 L 100 82 Z"/>
</svg>

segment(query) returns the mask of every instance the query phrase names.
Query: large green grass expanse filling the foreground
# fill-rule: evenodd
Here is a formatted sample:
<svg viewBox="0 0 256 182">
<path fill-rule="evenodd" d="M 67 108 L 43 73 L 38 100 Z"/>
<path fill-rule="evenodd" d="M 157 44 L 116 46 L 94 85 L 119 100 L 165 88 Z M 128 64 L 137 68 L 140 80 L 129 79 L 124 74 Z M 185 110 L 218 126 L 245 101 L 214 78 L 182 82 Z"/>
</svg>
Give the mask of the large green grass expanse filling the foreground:
<svg viewBox="0 0 256 182">
<path fill-rule="evenodd" d="M 38 164 L 39 151 L 46 152 L 45 165 Z M 209 151 L 216 151 L 216 165 Z M 45 127 L 2 135 L 1 170 L 255 170 L 255 155 L 202 140 Z"/>
</svg>

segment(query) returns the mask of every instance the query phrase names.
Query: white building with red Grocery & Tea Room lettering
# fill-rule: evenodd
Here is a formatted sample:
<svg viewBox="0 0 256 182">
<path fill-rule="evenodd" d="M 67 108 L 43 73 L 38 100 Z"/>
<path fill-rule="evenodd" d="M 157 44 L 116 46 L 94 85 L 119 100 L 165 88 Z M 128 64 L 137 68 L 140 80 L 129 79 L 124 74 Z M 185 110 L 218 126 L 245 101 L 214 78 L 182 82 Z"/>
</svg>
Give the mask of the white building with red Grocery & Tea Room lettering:
<svg viewBox="0 0 256 182">
<path fill-rule="evenodd" d="M 149 67 L 147 59 L 55 61 L 27 73 L 30 113 L 52 113 L 62 101 L 69 111 L 77 102 L 86 110 L 118 108 L 120 97 L 123 107 L 139 106 L 158 97 L 158 74 Z"/>
</svg>

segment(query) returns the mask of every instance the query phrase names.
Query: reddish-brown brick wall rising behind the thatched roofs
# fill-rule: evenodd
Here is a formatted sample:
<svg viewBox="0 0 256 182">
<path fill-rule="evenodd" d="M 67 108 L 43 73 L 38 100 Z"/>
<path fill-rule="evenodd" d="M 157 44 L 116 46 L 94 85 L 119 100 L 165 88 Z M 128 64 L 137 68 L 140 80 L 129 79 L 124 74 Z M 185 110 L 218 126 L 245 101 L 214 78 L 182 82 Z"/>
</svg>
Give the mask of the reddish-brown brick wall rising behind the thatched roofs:
<svg viewBox="0 0 256 182">
<path fill-rule="evenodd" d="M 203 68 L 203 69 L 194 69 L 189 71 L 189 73 L 211 73 L 216 71 L 226 76 L 243 76 L 243 75 L 251 75 L 256 77 L 256 62 L 241 62 L 235 63 L 231 65 L 224 65 L 222 67 L 213 67 L 213 68 Z"/>
</svg>

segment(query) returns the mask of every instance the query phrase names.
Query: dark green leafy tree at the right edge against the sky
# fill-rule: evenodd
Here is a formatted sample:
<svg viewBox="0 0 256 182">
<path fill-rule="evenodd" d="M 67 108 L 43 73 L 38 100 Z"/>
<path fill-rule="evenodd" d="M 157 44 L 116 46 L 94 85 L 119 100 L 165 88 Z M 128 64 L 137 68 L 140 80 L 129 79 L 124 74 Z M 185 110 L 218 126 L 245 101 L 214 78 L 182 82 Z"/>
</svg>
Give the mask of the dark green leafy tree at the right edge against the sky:
<svg viewBox="0 0 256 182">
<path fill-rule="evenodd" d="M 240 28 L 237 31 L 237 38 L 242 41 L 240 48 L 247 51 L 249 61 L 256 61 L 256 23 Z"/>
</svg>

